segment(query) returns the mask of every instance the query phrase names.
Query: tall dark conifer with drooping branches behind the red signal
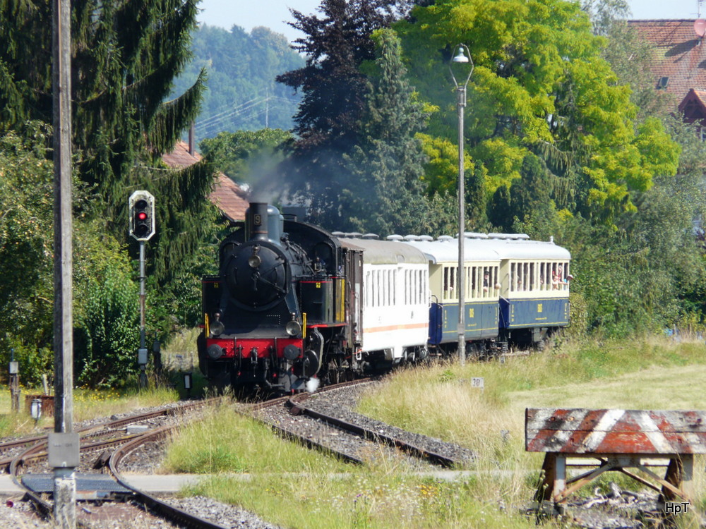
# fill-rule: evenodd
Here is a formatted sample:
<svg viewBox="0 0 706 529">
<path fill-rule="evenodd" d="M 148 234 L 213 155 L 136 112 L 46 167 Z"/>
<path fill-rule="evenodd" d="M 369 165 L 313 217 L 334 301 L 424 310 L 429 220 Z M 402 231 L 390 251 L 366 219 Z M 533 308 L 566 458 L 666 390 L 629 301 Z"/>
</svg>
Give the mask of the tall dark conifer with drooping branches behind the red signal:
<svg viewBox="0 0 706 529">
<path fill-rule="evenodd" d="M 110 229 L 126 236 L 127 198 L 157 197 L 163 245 L 155 271 L 168 278 L 203 237 L 212 171 L 155 171 L 198 114 L 205 73 L 169 102 L 172 80 L 190 57 L 198 0 L 73 0 L 71 6 L 73 150 L 78 174 L 102 198 Z M 0 130 L 28 119 L 52 122 L 52 2 L 0 4 Z M 28 53 L 28 50 L 32 53 Z"/>
</svg>

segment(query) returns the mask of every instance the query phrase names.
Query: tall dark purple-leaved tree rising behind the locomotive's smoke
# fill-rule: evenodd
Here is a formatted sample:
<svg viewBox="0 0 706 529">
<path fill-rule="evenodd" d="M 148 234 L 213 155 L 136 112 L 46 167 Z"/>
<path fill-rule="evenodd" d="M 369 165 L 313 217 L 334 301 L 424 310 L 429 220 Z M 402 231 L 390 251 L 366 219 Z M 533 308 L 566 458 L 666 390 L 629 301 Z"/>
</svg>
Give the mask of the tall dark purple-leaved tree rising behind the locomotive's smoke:
<svg viewBox="0 0 706 529">
<path fill-rule="evenodd" d="M 397 0 L 322 0 L 321 16 L 292 10 L 293 28 L 306 35 L 294 49 L 306 54 L 306 65 L 277 76 L 277 81 L 301 90 L 294 132 L 299 139 L 282 173 L 311 203 L 312 219 L 338 229 L 342 217 L 340 183 L 350 174 L 343 155 L 360 141 L 366 111 L 368 81 L 360 71 L 375 59 L 373 31 L 395 18 Z"/>
</svg>

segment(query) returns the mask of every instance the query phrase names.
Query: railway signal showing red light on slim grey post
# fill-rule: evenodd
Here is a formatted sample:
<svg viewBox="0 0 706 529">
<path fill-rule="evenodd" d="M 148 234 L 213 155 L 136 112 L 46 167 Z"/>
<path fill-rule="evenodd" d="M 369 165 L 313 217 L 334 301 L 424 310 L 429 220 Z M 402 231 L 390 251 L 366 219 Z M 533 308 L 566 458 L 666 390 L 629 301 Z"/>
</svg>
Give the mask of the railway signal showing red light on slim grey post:
<svg viewBox="0 0 706 529">
<path fill-rule="evenodd" d="M 140 365 L 140 387 L 147 387 L 147 347 L 145 346 L 145 241 L 155 234 L 155 197 L 148 191 L 135 191 L 130 195 L 130 235 L 140 243 L 140 348 L 137 363 Z"/>
</svg>

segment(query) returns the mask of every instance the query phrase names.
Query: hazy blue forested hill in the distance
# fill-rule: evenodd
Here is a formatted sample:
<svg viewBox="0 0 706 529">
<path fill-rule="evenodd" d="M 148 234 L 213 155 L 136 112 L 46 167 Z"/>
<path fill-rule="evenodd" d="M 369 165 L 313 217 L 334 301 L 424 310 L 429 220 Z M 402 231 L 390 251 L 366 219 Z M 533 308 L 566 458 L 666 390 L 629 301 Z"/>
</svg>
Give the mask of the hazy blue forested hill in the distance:
<svg viewBox="0 0 706 529">
<path fill-rule="evenodd" d="M 177 79 L 175 94 L 196 80 L 201 67 L 208 72 L 196 142 L 236 130 L 292 128 L 300 95 L 275 82 L 280 73 L 304 66 L 284 35 L 268 28 L 251 33 L 234 25 L 230 31 L 201 25 L 193 33 L 193 61 Z"/>
</svg>

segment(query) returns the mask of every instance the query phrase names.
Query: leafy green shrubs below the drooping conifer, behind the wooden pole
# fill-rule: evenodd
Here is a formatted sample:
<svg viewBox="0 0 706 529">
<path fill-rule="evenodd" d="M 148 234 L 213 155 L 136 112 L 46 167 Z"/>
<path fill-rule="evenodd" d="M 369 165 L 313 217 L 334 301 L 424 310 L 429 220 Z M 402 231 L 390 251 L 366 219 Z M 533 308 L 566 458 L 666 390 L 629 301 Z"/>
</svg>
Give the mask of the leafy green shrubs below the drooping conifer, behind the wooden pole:
<svg viewBox="0 0 706 529">
<path fill-rule="evenodd" d="M 25 384 L 53 371 L 54 170 L 50 130 L 0 137 L 0 354 L 11 349 Z M 92 219 L 98 201 L 74 179 L 75 374 L 88 384 L 125 382 L 138 343 L 136 283 L 124 246 Z M 100 324 L 99 324 L 100 323 Z"/>
</svg>

